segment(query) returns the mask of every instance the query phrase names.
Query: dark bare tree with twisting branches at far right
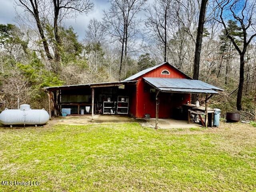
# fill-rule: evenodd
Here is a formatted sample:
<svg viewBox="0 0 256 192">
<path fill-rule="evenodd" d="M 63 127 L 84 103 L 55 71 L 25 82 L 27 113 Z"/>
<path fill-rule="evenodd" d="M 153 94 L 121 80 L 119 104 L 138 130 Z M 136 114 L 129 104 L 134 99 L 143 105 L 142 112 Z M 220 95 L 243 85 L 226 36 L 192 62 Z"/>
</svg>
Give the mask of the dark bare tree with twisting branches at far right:
<svg viewBox="0 0 256 192">
<path fill-rule="evenodd" d="M 236 108 L 237 110 L 242 110 L 241 101 L 244 86 L 244 56 L 248 45 L 256 36 L 256 1 L 245 0 L 241 3 L 239 0 L 216 0 L 216 3 L 218 8 L 217 21 L 223 25 L 226 36 L 230 39 L 240 56 L 239 86 Z M 236 37 L 230 34 L 230 31 L 227 28 L 227 19 L 231 18 L 237 21 L 239 27 L 242 28 L 243 37 L 241 46 L 236 41 Z"/>
</svg>

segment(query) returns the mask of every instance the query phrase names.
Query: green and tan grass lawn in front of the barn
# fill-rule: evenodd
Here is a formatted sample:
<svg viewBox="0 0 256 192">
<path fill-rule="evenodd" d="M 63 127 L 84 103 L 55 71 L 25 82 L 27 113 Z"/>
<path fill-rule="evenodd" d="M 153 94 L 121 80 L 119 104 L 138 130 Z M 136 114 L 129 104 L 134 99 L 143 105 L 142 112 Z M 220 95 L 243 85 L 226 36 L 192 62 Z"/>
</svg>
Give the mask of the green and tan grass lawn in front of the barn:
<svg viewBox="0 0 256 192">
<path fill-rule="evenodd" d="M 256 191 L 256 128 L 0 128 L 0 191 Z"/>
</svg>

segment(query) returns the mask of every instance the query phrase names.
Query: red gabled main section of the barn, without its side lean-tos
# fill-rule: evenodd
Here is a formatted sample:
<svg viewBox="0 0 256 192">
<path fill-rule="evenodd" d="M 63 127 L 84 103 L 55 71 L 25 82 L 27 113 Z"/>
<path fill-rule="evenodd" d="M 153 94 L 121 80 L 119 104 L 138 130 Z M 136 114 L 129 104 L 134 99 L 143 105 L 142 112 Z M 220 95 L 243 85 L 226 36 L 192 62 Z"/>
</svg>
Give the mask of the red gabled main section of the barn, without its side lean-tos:
<svg viewBox="0 0 256 192">
<path fill-rule="evenodd" d="M 136 92 L 132 97 L 130 113 L 136 118 L 143 118 L 144 114 L 150 114 L 151 117 L 156 117 L 156 98 L 155 90 L 146 81 L 145 78 L 185 78 L 192 79 L 168 62 L 142 70 L 124 81 L 136 80 Z M 173 109 L 190 102 L 189 93 L 170 94 L 163 92 L 159 95 L 159 118 L 172 117 Z"/>
</svg>

